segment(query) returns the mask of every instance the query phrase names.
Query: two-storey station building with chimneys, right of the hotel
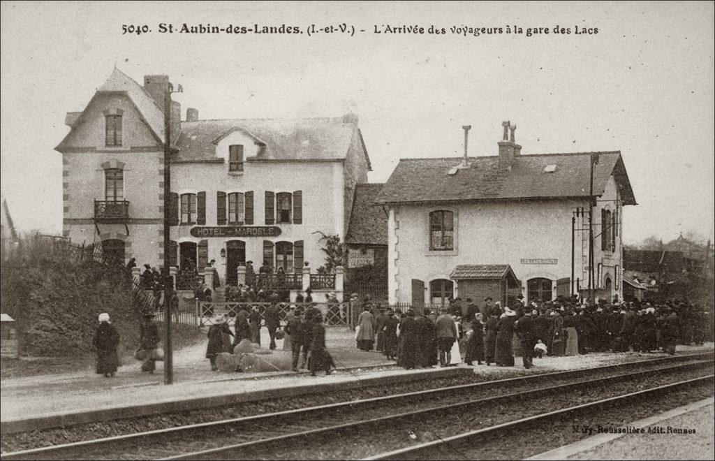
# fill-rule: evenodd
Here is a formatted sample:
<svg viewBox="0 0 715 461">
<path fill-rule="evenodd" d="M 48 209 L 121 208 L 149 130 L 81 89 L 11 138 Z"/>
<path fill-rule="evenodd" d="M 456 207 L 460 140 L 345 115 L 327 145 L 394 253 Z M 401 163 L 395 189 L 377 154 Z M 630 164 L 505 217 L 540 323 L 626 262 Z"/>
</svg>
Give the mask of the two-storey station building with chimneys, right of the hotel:
<svg viewBox="0 0 715 461">
<path fill-rule="evenodd" d="M 504 301 L 583 295 L 589 264 L 596 298 L 622 299 L 623 206 L 636 200 L 621 153 L 523 155 L 516 127 L 503 128 L 497 155 L 467 157 L 465 132 L 463 158 L 400 159 L 376 199 L 388 211 L 390 303 L 443 304 L 485 287 Z"/>
</svg>

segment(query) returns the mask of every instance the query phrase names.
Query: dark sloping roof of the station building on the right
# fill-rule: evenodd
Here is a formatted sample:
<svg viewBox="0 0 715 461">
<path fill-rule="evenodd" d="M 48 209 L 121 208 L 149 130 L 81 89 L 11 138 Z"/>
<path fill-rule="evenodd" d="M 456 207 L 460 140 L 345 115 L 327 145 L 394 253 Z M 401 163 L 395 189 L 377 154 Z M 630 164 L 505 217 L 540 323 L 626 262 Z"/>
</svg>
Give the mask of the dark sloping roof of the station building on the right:
<svg viewBox="0 0 715 461">
<path fill-rule="evenodd" d="M 515 157 L 511 169 L 499 157 L 469 157 L 470 168 L 448 172 L 461 157 L 400 159 L 378 195 L 378 203 L 448 202 L 459 200 L 588 197 L 591 152 L 532 154 Z M 621 184 L 623 204 L 636 204 L 621 152 L 598 152 L 593 167 L 593 194 L 600 196 L 611 174 Z M 556 171 L 544 167 L 556 164 Z"/>
</svg>

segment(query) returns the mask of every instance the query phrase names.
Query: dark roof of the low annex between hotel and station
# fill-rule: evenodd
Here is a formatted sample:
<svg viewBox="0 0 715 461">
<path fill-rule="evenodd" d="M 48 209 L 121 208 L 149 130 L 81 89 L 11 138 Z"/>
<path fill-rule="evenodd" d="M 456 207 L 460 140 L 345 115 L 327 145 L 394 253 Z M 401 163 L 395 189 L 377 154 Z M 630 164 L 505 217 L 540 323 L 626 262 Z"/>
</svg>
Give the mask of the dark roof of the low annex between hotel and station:
<svg viewBox="0 0 715 461">
<path fill-rule="evenodd" d="M 350 225 L 345 242 L 348 244 L 388 244 L 388 217 L 383 207 L 375 204 L 383 184 L 358 184 L 352 201 Z"/>
</svg>

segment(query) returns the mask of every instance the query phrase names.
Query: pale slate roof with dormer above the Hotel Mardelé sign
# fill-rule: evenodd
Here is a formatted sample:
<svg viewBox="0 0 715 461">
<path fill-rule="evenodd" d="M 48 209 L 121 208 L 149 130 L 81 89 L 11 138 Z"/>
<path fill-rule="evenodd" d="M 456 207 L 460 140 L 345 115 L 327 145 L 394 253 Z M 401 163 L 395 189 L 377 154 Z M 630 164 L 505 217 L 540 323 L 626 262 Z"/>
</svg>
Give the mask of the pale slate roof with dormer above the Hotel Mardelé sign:
<svg viewBox="0 0 715 461">
<path fill-rule="evenodd" d="M 232 119 L 182 122 L 177 141 L 179 152 L 172 162 L 222 162 L 216 155 L 219 139 L 240 130 L 260 146 L 260 160 L 342 160 L 360 130 L 342 117 L 331 119 Z M 359 139 L 358 139 L 359 141 Z M 365 158 L 368 153 L 365 151 Z M 368 159 L 368 164 L 369 164 Z"/>
</svg>

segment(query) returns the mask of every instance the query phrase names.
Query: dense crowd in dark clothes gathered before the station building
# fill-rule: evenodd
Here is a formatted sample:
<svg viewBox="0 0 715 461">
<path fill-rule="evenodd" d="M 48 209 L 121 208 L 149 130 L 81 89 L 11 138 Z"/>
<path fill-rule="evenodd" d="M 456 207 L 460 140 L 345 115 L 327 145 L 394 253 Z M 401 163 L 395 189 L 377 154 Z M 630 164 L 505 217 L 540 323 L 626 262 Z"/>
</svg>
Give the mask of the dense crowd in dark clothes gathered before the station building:
<svg viewBox="0 0 715 461">
<path fill-rule="evenodd" d="M 360 350 L 378 350 L 407 369 L 466 365 L 511 367 L 521 355 L 531 368 L 533 357 L 582 355 L 589 352 L 654 352 L 675 354 L 677 344 L 703 344 L 711 337 L 711 311 L 678 300 L 651 303 L 601 301 L 588 306 L 578 297 L 511 307 L 490 297 L 479 307 L 472 299 L 450 299 L 439 314 L 427 310 L 395 312 L 363 303 L 355 340 Z M 461 343 L 461 348 L 460 348 Z"/>
</svg>

